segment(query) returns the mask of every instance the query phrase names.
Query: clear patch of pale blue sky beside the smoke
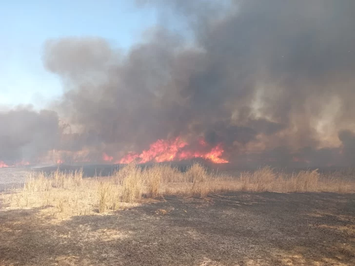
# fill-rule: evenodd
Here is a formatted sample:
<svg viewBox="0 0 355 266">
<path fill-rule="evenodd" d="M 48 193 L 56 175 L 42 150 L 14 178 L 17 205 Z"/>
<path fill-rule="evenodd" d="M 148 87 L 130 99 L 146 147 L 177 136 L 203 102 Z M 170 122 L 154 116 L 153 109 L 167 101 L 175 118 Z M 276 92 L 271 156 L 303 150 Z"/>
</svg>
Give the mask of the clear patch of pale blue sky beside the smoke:
<svg viewBox="0 0 355 266">
<path fill-rule="evenodd" d="M 59 78 L 42 65 L 46 39 L 99 36 L 128 49 L 156 23 L 154 10 L 134 0 L 0 1 L 0 106 L 43 108 L 61 94 Z"/>
</svg>

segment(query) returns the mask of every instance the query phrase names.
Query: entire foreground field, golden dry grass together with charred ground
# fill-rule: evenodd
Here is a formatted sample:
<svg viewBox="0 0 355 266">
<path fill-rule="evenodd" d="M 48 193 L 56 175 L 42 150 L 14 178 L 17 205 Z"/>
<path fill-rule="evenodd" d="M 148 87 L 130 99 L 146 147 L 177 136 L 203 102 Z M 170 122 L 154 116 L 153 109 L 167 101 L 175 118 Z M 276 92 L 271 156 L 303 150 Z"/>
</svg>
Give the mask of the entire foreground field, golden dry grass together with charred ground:
<svg viewBox="0 0 355 266">
<path fill-rule="evenodd" d="M 355 265 L 354 177 L 199 164 L 33 172 L 0 194 L 0 265 Z"/>
</svg>

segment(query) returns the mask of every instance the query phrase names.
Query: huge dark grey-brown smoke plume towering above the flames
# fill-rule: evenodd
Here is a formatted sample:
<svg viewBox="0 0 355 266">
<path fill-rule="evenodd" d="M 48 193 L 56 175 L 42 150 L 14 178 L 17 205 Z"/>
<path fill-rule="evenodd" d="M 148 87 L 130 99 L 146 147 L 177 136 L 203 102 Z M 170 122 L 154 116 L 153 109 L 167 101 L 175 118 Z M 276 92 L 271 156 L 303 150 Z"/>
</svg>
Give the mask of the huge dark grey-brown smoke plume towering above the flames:
<svg viewBox="0 0 355 266">
<path fill-rule="evenodd" d="M 233 163 L 355 162 L 355 1 L 139 4 L 162 23 L 127 52 L 101 38 L 46 43 L 64 86 L 55 108 L 76 132 L 65 149 L 119 158 L 203 136 Z"/>
</svg>

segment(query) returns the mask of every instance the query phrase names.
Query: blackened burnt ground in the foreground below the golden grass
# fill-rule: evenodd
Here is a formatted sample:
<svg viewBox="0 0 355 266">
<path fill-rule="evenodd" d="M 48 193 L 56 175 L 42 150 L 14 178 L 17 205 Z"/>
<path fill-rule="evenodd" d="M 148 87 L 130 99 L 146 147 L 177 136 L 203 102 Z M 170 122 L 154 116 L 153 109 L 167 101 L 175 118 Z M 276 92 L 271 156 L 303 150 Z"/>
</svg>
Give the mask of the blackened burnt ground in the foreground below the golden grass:
<svg viewBox="0 0 355 266">
<path fill-rule="evenodd" d="M 354 194 L 236 192 L 61 221 L 43 213 L 0 210 L 0 265 L 355 265 Z"/>
</svg>

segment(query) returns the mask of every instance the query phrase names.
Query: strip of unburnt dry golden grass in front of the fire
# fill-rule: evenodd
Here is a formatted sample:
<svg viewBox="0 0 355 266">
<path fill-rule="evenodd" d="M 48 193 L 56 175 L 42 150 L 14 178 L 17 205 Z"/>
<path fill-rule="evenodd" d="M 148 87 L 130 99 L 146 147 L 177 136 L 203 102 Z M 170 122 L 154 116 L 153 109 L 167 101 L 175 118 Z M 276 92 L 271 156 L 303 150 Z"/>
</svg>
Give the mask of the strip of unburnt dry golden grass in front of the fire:
<svg viewBox="0 0 355 266">
<path fill-rule="evenodd" d="M 354 177 L 354 172 L 350 171 L 287 174 L 270 167 L 233 176 L 208 171 L 197 163 L 184 172 L 168 165 L 141 169 L 130 163 L 108 177 L 83 178 L 82 169 L 30 173 L 21 190 L 6 190 L 0 194 L 0 199 L 7 209 L 47 207 L 53 215 L 64 217 L 124 209 L 142 197 L 165 195 L 205 198 L 228 191 L 347 193 L 355 191 Z"/>
</svg>

